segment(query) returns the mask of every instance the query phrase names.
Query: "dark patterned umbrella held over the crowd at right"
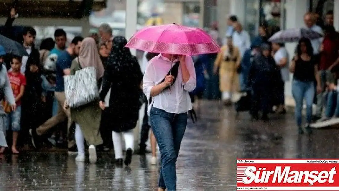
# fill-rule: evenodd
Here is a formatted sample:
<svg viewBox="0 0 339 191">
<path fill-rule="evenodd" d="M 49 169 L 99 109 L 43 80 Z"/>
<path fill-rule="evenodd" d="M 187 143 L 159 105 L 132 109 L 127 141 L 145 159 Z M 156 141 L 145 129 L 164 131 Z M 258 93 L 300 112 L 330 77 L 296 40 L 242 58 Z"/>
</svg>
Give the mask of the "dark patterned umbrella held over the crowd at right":
<svg viewBox="0 0 339 191">
<path fill-rule="evenodd" d="M 301 38 L 314 40 L 322 36 L 322 34 L 307 28 L 291 28 L 275 33 L 268 41 L 275 43 L 296 42 Z"/>
</svg>

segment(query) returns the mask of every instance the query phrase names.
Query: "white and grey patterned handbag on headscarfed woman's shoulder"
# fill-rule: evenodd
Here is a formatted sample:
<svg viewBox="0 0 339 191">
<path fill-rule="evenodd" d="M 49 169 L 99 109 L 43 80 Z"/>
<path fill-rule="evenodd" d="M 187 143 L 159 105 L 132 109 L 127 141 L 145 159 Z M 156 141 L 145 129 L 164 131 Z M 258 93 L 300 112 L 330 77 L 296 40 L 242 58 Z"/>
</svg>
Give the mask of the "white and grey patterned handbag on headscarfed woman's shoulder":
<svg viewBox="0 0 339 191">
<path fill-rule="evenodd" d="M 96 70 L 87 67 L 64 76 L 66 102 L 71 108 L 78 108 L 99 97 Z"/>
</svg>

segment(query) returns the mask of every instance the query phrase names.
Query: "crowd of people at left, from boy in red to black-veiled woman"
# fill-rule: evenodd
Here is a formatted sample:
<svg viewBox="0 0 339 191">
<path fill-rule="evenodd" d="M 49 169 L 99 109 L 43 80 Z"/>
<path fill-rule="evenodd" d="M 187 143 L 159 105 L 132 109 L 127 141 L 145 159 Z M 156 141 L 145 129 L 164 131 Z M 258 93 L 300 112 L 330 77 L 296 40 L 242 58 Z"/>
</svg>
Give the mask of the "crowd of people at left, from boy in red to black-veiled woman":
<svg viewBox="0 0 339 191">
<path fill-rule="evenodd" d="M 14 21 L 15 14 L 11 12 L 8 19 Z M 6 27 L 10 32 L 11 26 Z M 11 33 L 2 35 L 18 41 Z M 55 40 L 44 39 L 38 50 L 36 31 L 27 26 L 23 27 L 21 44 L 28 56 L 8 54 L 0 44 L 0 154 L 8 146 L 13 154 L 25 147 L 59 146 L 68 148 L 69 153 L 76 152 L 76 161 L 84 161 L 86 142 L 89 160 L 95 163 L 97 149 L 108 151 L 114 142 L 115 163 L 131 164 L 132 130 L 142 104 L 143 75 L 138 59 L 124 47 L 124 37 L 113 37 L 108 24 L 100 26 L 99 35 L 100 39 L 76 36 L 67 45 L 67 34 L 59 28 Z M 81 107 L 68 107 L 64 77 L 87 67 L 96 69 L 99 99 Z M 6 132 L 12 136 L 6 136 Z M 122 134 L 127 147 L 125 158 Z"/>
</svg>

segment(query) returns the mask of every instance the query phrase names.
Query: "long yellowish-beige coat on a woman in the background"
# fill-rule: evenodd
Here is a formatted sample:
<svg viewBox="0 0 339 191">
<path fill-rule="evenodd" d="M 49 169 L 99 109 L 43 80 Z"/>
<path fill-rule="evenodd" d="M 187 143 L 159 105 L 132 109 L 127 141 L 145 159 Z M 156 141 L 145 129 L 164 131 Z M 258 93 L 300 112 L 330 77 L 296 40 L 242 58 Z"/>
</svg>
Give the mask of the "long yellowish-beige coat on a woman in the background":
<svg viewBox="0 0 339 191">
<path fill-rule="evenodd" d="M 214 62 L 214 67 L 219 68 L 219 88 L 221 92 L 237 92 L 239 91 L 237 69 L 240 66 L 240 52 L 237 47 L 234 47 L 233 54 L 230 56 L 231 60 L 225 61 L 227 52 L 228 46 L 222 46 Z"/>
</svg>

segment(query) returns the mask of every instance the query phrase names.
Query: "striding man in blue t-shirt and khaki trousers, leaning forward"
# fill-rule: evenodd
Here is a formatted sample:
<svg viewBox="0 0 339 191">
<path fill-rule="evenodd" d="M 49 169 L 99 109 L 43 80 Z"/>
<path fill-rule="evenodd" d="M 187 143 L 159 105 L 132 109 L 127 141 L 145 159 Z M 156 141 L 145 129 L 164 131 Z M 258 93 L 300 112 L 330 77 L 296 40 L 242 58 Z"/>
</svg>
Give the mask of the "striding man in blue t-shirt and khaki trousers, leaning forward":
<svg viewBox="0 0 339 191">
<path fill-rule="evenodd" d="M 65 88 L 64 88 L 64 75 L 69 75 L 71 73 L 71 65 L 74 57 L 78 56 L 81 46 L 82 37 L 77 36 L 72 40 L 71 45 L 65 50 L 62 51 L 56 62 L 56 87 L 55 87 L 55 97 L 58 100 L 58 113 L 57 115 L 49 118 L 45 123 L 43 123 L 40 127 L 38 127 L 35 131 L 32 129 L 29 130 L 29 134 L 32 138 L 32 144 L 36 147 L 35 137 L 36 135 L 41 136 L 49 129 L 58 125 L 67 119 L 67 137 L 68 130 L 72 125 L 71 119 L 71 111 L 69 109 L 64 110 L 63 104 L 66 100 L 65 96 Z M 67 139 L 68 140 L 68 139 Z M 68 141 L 68 148 L 72 148 L 74 146 L 74 142 Z"/>
</svg>

